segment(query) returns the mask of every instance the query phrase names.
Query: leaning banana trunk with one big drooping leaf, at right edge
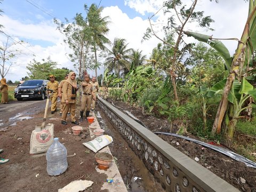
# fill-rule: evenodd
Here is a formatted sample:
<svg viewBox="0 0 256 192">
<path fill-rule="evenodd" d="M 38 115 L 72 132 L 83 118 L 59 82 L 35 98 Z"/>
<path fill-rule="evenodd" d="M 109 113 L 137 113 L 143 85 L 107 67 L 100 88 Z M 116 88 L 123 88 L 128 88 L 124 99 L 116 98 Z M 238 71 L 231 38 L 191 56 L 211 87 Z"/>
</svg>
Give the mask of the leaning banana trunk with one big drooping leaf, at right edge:
<svg viewBox="0 0 256 192">
<path fill-rule="evenodd" d="M 216 132 L 220 133 L 221 124 L 223 118 L 225 117 L 227 106 L 228 106 L 228 95 L 233 86 L 233 82 L 237 79 L 239 82 L 243 76 L 244 65 L 249 66 L 249 62 L 252 59 L 252 53 L 256 48 L 256 0 L 249 1 L 249 14 L 247 21 L 245 23 L 244 31 L 240 40 L 238 40 L 238 46 L 234 57 L 231 58 L 229 52 L 225 45 L 223 45 L 218 39 L 212 38 L 212 36 L 207 36 L 203 34 L 191 33 L 185 31 L 185 34 L 196 38 L 198 41 L 208 43 L 215 50 L 217 50 L 220 55 L 226 61 L 226 68 L 229 70 L 229 75 L 223 90 L 220 105 L 215 116 L 215 121 L 212 127 L 212 135 Z M 234 39 L 234 38 L 230 38 Z"/>
</svg>

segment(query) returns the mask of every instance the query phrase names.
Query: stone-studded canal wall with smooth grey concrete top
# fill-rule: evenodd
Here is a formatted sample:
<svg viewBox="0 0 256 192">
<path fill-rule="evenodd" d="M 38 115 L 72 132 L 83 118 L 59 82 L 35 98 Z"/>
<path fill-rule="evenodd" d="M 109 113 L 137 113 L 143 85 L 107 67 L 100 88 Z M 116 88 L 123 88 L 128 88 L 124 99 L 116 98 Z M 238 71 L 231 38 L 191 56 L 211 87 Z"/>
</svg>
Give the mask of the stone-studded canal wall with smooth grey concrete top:
<svg viewBox="0 0 256 192">
<path fill-rule="evenodd" d="M 100 97 L 98 106 L 166 191 L 239 191 Z"/>
</svg>

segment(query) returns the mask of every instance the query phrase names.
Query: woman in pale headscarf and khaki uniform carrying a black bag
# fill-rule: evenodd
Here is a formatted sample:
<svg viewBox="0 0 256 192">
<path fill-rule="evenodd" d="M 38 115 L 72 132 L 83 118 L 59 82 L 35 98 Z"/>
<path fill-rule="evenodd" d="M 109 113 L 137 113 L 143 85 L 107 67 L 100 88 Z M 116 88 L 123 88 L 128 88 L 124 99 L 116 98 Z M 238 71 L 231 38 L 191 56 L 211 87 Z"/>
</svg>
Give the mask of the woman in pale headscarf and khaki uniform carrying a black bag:
<svg viewBox="0 0 256 192">
<path fill-rule="evenodd" d="M 61 116 L 61 124 L 67 125 L 67 114 L 68 109 L 71 111 L 71 123 L 75 125 L 79 125 L 79 123 L 75 119 L 76 114 L 76 91 L 77 91 L 77 83 L 76 83 L 76 74 L 74 71 L 71 71 L 68 74 L 68 79 L 63 82 L 62 85 L 62 98 L 61 103 L 63 104 L 63 113 Z"/>
</svg>

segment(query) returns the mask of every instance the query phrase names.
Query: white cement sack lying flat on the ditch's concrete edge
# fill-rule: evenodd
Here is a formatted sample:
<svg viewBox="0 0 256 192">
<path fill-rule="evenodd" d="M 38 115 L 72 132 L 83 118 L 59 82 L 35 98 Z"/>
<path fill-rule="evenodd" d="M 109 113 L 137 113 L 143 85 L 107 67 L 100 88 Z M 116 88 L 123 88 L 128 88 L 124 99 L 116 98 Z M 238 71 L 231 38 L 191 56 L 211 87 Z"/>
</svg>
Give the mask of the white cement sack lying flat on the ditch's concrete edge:
<svg viewBox="0 0 256 192">
<path fill-rule="evenodd" d="M 91 149 L 94 153 L 97 153 L 98 150 L 109 145 L 113 141 L 113 138 L 109 135 L 101 135 L 92 141 L 83 143 L 83 145 Z"/>
</svg>

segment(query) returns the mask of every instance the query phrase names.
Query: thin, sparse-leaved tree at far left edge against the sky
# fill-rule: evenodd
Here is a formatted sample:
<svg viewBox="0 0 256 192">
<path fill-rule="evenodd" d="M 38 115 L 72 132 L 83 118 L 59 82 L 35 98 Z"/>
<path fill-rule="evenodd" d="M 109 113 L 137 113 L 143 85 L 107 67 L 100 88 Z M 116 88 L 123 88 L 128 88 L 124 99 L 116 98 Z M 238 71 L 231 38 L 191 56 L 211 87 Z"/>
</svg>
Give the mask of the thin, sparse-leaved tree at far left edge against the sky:
<svg viewBox="0 0 256 192">
<path fill-rule="evenodd" d="M 0 75 L 4 78 L 13 65 L 12 59 L 17 57 L 22 52 L 19 49 L 15 49 L 15 45 L 23 43 L 11 42 L 10 36 L 6 36 L 6 42 L 0 46 Z"/>
</svg>

